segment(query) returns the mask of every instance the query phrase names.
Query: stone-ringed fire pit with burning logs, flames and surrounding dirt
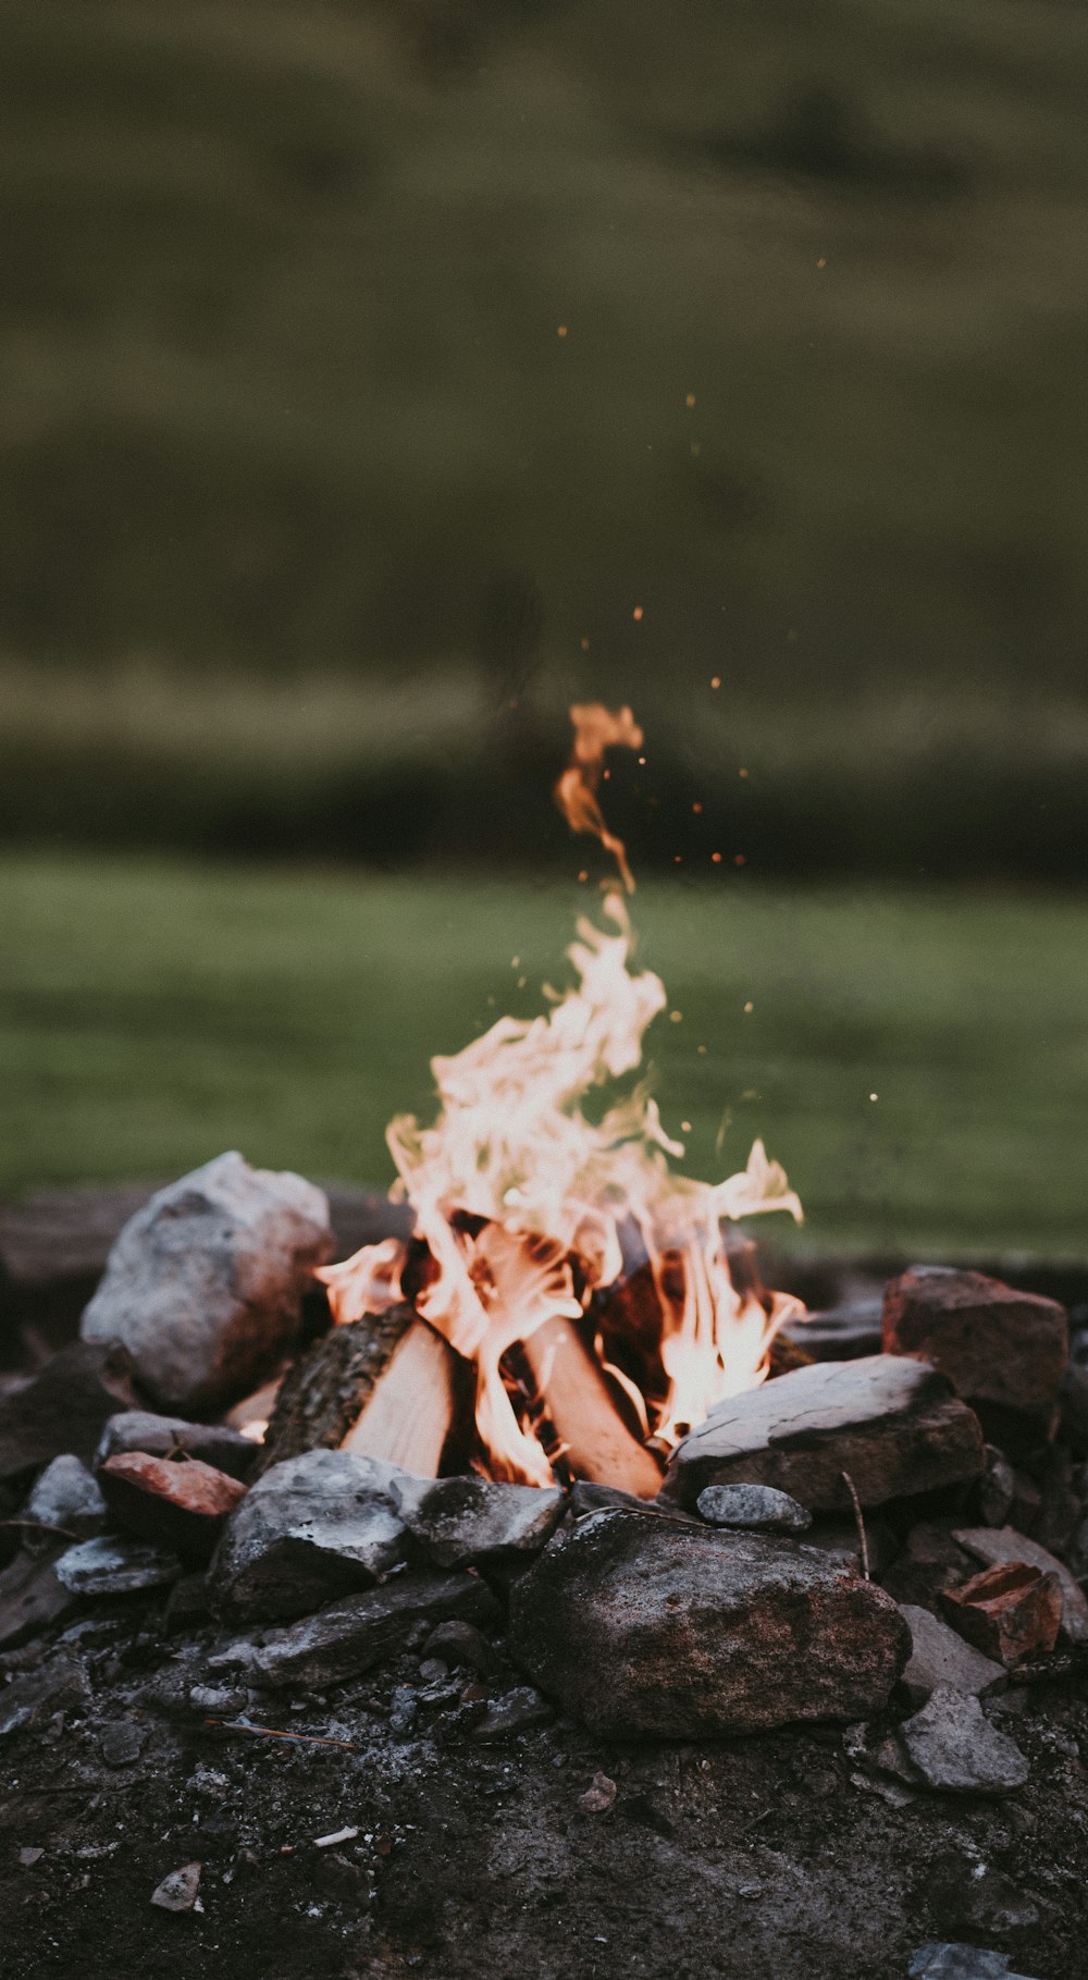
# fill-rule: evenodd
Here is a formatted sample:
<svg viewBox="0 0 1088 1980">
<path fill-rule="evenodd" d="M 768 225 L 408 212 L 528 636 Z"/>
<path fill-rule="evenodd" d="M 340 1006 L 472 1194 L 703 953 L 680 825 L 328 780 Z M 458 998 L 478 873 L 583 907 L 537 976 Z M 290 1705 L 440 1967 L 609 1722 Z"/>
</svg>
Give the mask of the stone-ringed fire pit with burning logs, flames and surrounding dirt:
<svg viewBox="0 0 1088 1980">
<path fill-rule="evenodd" d="M 764 1289 L 738 1220 L 799 1204 L 760 1142 L 677 1168 L 597 804 L 641 733 L 574 715 L 619 885 L 544 1016 L 435 1061 L 352 1255 L 226 1154 L 135 1208 L 79 1340 L 16 1289 L 14 1976 L 1082 1970 L 1066 1313 L 916 1267 L 874 1338 Z"/>
</svg>

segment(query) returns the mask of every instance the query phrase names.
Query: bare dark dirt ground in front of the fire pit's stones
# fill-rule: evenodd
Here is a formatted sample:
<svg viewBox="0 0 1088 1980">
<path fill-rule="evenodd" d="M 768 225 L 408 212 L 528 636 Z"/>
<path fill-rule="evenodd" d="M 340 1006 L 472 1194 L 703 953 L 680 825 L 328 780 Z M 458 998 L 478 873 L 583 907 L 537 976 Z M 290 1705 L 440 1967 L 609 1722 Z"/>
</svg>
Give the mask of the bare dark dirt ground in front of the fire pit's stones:
<svg viewBox="0 0 1088 1980">
<path fill-rule="evenodd" d="M 1084 1681 L 1007 1695 L 1019 1794 L 890 1806 L 880 1723 L 619 1746 L 556 1721 L 481 1744 L 465 1679 L 411 1655 L 251 1695 L 243 1715 L 291 1738 L 224 1731 L 188 1697 L 218 1641 L 166 1634 L 160 1598 L 69 1634 L 89 1697 L 2 1744 L 4 1980 L 900 1980 L 928 1940 L 1088 1974 Z M 595 1774 L 617 1792 L 591 1814 Z M 186 1863 L 200 1909 L 156 1909 Z"/>
</svg>

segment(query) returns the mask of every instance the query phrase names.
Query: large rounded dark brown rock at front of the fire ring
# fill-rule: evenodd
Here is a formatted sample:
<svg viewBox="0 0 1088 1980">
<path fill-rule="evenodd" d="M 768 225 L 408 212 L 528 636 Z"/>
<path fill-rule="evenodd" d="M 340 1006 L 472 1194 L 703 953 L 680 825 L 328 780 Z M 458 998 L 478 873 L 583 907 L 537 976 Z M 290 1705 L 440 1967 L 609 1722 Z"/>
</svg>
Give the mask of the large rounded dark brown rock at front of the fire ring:
<svg viewBox="0 0 1088 1980">
<path fill-rule="evenodd" d="M 894 1602 L 797 1542 L 637 1513 L 560 1533 L 510 1596 L 514 1661 L 593 1732 L 864 1719 L 910 1653 Z"/>
</svg>

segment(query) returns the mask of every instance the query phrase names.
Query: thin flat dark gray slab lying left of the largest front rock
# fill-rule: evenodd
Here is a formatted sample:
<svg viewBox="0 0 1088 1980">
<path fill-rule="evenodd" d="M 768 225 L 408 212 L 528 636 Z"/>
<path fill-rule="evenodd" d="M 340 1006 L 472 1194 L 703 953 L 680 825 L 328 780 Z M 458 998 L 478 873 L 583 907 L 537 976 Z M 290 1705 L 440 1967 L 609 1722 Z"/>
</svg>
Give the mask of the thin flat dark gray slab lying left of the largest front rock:
<svg viewBox="0 0 1088 1980">
<path fill-rule="evenodd" d="M 413 1624 L 495 1620 L 495 1598 L 475 1574 L 398 1574 L 384 1588 L 330 1602 L 255 1649 L 253 1685 L 336 1685 L 402 1649 Z"/>
</svg>

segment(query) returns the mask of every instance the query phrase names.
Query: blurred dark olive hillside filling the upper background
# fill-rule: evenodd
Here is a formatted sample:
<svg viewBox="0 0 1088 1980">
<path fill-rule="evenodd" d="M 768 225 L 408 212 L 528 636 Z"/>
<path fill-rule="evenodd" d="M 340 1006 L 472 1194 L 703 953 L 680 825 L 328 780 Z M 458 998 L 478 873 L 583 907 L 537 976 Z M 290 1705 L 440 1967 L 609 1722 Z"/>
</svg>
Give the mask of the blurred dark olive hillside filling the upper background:
<svg viewBox="0 0 1088 1980">
<path fill-rule="evenodd" d="M 0 834 L 1082 877 L 1076 0 L 0 28 Z"/>
</svg>

